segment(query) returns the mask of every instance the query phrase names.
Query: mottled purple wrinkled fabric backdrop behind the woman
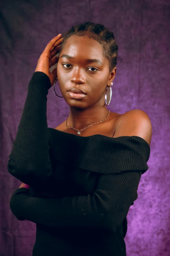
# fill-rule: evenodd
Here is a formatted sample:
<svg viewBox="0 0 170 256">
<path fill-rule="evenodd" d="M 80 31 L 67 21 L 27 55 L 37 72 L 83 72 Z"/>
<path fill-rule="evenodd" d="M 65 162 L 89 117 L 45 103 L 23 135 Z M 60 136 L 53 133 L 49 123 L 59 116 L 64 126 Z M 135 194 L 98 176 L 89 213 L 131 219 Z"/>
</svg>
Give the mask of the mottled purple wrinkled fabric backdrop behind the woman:
<svg viewBox="0 0 170 256">
<path fill-rule="evenodd" d="M 28 83 L 47 43 L 85 21 L 113 31 L 119 46 L 108 110 L 145 111 L 153 133 L 149 169 L 127 215 L 127 256 L 170 255 L 170 1 L 7 1 L 0 3 L 0 256 L 30 256 L 36 224 L 19 221 L 9 200 L 21 181 L 7 171 Z M 56 92 L 61 96 L 58 82 Z M 48 126 L 55 128 L 69 106 L 49 90 Z M 168 206 L 169 205 L 169 206 Z"/>
</svg>

